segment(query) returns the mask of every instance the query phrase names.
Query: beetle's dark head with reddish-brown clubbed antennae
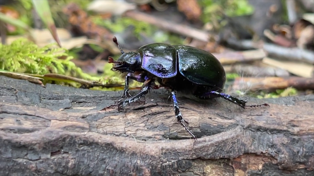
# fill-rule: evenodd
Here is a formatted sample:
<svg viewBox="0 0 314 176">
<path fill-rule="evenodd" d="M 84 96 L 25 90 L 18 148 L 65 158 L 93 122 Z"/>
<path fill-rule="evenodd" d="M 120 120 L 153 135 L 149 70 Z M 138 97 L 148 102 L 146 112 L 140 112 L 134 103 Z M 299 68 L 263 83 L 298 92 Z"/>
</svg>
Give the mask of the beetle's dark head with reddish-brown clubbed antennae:
<svg viewBox="0 0 314 176">
<path fill-rule="evenodd" d="M 118 60 L 113 60 L 109 57 L 109 63 L 113 63 L 111 70 L 120 72 L 135 72 L 140 67 L 141 56 L 138 52 L 128 52 L 125 53 L 119 46 L 116 37 L 113 37 L 113 42 L 117 45 L 122 55 Z"/>
</svg>

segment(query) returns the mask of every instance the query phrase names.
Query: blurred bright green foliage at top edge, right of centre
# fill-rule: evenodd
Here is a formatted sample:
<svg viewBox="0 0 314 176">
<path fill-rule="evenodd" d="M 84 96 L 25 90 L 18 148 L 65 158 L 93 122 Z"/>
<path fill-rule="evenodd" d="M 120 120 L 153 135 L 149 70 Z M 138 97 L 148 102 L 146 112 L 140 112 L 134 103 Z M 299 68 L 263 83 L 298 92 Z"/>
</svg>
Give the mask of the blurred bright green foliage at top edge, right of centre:
<svg viewBox="0 0 314 176">
<path fill-rule="evenodd" d="M 252 14 L 254 8 L 247 0 L 199 0 L 204 7 L 202 20 L 204 23 L 220 20 L 223 14 L 233 17 Z"/>
</svg>

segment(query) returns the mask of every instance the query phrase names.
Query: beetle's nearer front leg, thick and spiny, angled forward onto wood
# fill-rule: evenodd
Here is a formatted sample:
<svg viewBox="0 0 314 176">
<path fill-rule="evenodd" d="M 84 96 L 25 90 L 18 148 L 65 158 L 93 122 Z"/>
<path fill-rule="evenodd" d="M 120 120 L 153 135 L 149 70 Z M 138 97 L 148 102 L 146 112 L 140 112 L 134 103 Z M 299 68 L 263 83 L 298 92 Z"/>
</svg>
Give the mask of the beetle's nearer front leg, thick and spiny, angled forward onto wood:
<svg viewBox="0 0 314 176">
<path fill-rule="evenodd" d="M 125 106 L 127 106 L 128 104 L 138 101 L 140 98 L 142 98 L 149 92 L 149 89 L 151 88 L 151 85 L 153 84 L 154 80 L 150 79 L 147 81 L 148 81 L 147 84 L 141 89 L 141 91 L 138 94 L 120 101 L 120 103 L 118 104 L 118 111 L 124 109 Z"/>
</svg>

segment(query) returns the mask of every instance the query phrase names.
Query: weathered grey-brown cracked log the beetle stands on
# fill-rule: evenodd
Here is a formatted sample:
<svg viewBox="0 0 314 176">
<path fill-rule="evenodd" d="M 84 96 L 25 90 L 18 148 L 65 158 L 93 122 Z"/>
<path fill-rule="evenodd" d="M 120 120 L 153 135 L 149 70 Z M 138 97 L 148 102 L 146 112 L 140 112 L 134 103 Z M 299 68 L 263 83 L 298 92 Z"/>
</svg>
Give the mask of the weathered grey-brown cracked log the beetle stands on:
<svg viewBox="0 0 314 176">
<path fill-rule="evenodd" d="M 246 110 L 180 98 L 194 143 L 163 92 L 99 111 L 121 92 L 0 76 L 0 175 L 313 175 L 314 96 L 251 98 L 270 107 Z"/>
</svg>

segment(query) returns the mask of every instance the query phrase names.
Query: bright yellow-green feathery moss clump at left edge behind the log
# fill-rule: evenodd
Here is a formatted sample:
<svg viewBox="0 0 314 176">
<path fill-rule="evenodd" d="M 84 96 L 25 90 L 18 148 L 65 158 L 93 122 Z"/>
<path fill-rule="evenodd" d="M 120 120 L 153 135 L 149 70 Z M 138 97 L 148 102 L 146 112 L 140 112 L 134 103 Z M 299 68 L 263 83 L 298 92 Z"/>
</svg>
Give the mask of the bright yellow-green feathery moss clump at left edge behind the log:
<svg viewBox="0 0 314 176">
<path fill-rule="evenodd" d="M 12 72 L 40 75 L 73 73 L 75 65 L 69 61 L 72 58 L 64 52 L 65 49 L 52 48 L 53 45 L 55 44 L 39 48 L 25 38 L 17 39 L 10 45 L 0 44 L 0 68 Z M 61 56 L 65 56 L 67 59 L 58 59 Z M 65 70 L 65 67 L 67 70 Z M 82 71 L 75 70 L 75 72 L 75 75 L 85 77 Z"/>
</svg>

